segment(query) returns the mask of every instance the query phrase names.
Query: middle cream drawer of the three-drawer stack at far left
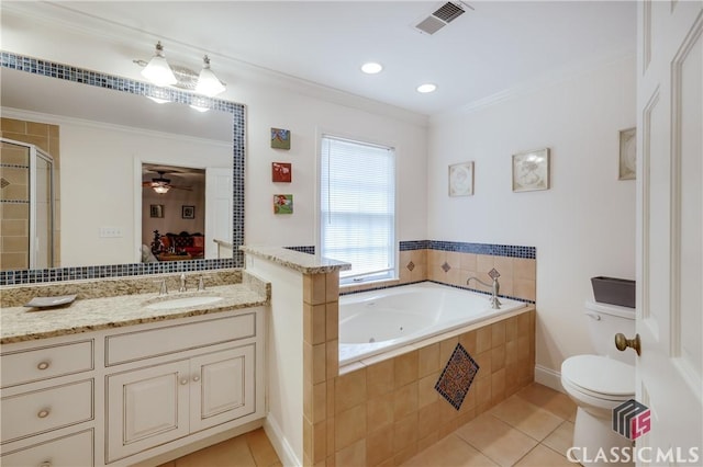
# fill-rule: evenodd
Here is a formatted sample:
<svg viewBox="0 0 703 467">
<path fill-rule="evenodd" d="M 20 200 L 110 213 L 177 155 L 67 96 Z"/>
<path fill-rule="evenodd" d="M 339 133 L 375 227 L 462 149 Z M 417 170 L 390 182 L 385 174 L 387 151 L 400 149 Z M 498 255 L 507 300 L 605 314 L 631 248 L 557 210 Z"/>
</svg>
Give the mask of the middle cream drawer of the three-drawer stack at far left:
<svg viewBox="0 0 703 467">
<path fill-rule="evenodd" d="M 54 386 L 0 400 L 2 443 L 93 419 L 93 381 Z"/>
</svg>

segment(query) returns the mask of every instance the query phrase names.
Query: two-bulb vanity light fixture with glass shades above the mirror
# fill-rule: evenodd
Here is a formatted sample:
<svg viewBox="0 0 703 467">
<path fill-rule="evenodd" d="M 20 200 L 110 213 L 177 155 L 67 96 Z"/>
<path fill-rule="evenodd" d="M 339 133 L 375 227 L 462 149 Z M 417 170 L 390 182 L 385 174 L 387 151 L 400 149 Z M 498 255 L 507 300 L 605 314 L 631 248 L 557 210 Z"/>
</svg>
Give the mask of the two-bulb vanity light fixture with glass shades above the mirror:
<svg viewBox="0 0 703 467">
<path fill-rule="evenodd" d="M 197 73 L 190 68 L 169 64 L 164 55 L 164 46 L 160 41 L 156 44 L 156 55 L 148 62 L 144 60 L 133 61 L 144 67 L 142 76 L 159 88 L 172 86 L 174 88 L 194 91 L 209 98 L 220 94 L 226 89 L 225 83 L 220 81 L 210 68 L 210 57 L 207 55 L 203 57 L 202 70 Z"/>
</svg>

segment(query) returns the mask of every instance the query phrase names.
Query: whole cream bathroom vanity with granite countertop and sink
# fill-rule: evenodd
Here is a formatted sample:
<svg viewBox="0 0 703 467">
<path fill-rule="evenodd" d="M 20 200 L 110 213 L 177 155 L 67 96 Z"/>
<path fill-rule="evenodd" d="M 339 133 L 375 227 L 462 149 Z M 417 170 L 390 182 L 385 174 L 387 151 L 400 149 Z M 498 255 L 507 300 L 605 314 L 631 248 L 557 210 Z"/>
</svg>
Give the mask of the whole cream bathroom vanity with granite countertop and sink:
<svg viewBox="0 0 703 467">
<path fill-rule="evenodd" d="M 147 309 L 154 293 L 3 307 L 0 464 L 158 465 L 260 426 L 270 294 L 247 281 L 181 308 Z"/>
</svg>

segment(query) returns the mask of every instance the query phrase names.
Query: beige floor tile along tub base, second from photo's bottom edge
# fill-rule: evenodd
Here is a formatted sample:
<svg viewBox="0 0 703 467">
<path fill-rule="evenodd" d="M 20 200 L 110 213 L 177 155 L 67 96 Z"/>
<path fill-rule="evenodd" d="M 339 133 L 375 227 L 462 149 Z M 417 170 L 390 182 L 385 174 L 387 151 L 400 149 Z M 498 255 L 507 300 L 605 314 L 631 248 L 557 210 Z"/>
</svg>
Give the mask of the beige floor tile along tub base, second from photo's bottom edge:
<svg viewBox="0 0 703 467">
<path fill-rule="evenodd" d="M 488 412 L 459 428 L 456 434 L 501 466 L 512 466 L 537 445 L 537 441 Z"/>
</svg>

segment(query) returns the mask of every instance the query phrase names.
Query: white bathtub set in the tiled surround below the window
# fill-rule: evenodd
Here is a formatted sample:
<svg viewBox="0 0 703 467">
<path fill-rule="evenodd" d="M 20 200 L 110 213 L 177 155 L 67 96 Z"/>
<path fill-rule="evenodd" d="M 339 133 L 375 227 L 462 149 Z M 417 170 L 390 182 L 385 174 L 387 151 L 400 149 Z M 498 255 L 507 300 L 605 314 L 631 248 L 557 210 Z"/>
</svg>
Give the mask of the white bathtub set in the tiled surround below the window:
<svg viewBox="0 0 703 467">
<path fill-rule="evenodd" d="M 526 306 L 432 282 L 339 297 L 339 365 L 388 352 Z"/>
</svg>

